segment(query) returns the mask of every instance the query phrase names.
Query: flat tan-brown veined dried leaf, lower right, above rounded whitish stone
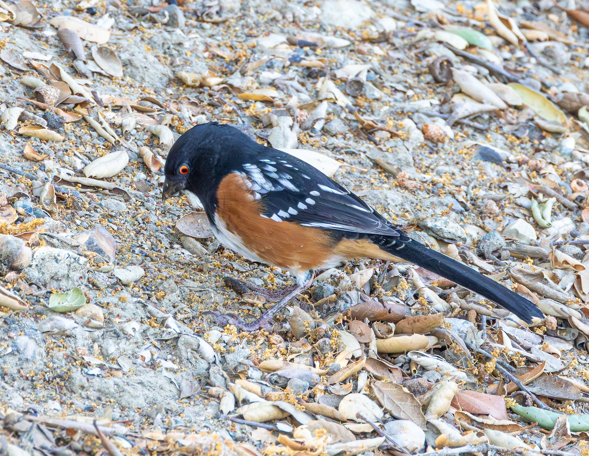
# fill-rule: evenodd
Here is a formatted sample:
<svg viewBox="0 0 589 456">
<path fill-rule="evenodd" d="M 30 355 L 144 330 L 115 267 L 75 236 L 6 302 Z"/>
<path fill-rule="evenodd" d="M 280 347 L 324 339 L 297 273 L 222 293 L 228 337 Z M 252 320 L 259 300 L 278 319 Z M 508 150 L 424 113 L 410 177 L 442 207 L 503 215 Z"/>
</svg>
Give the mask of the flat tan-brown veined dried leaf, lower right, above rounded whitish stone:
<svg viewBox="0 0 589 456">
<path fill-rule="evenodd" d="M 406 419 L 414 422 L 422 429 L 426 428 L 426 420 L 421 410 L 421 404 L 402 385 L 380 380 L 373 383 L 372 391 L 380 404 L 395 418 Z"/>
</svg>

